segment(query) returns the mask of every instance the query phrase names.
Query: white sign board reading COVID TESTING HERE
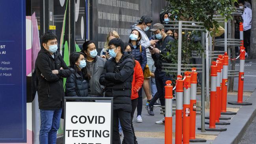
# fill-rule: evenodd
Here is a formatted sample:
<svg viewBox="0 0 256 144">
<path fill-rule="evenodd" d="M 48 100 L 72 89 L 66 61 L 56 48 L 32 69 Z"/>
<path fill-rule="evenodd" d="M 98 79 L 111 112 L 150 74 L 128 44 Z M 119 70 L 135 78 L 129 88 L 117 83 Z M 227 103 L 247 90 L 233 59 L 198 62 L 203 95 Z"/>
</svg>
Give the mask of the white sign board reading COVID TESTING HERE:
<svg viewBox="0 0 256 144">
<path fill-rule="evenodd" d="M 111 102 L 66 102 L 65 144 L 111 144 Z"/>
</svg>

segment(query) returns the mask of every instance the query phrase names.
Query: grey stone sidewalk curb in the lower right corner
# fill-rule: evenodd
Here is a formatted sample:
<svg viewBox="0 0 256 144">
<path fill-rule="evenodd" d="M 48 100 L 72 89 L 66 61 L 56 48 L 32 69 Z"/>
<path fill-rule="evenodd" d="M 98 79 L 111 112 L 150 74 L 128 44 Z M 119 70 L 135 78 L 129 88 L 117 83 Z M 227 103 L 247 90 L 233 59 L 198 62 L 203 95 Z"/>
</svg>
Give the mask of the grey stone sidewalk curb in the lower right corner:
<svg viewBox="0 0 256 144">
<path fill-rule="evenodd" d="M 212 144 L 237 144 L 246 128 L 252 122 L 256 115 L 256 91 L 246 100 L 252 105 L 241 106 L 237 114 L 230 121 L 230 125 L 226 126 L 227 131 L 221 132 Z"/>
</svg>

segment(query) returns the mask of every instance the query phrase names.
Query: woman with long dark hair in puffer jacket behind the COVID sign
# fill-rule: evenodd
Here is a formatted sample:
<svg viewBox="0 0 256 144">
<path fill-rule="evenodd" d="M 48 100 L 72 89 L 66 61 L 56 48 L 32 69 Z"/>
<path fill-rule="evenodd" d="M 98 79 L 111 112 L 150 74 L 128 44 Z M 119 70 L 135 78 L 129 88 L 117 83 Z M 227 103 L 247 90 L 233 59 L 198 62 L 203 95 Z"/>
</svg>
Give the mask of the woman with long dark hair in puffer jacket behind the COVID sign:
<svg viewBox="0 0 256 144">
<path fill-rule="evenodd" d="M 85 68 L 85 55 L 81 52 L 75 52 L 70 55 L 70 71 L 71 74 L 67 78 L 65 96 L 71 97 L 87 97 L 89 74 Z M 82 100 L 79 100 L 82 101 Z"/>
</svg>

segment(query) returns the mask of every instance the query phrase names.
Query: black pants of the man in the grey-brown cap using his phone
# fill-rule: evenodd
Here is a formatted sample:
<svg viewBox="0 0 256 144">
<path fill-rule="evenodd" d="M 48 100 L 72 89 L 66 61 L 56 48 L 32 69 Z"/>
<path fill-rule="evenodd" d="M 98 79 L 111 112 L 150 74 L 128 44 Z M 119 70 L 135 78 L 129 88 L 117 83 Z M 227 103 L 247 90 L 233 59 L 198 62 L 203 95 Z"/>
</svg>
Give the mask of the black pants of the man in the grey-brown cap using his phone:
<svg viewBox="0 0 256 144">
<path fill-rule="evenodd" d="M 155 80 L 156 80 L 156 89 L 157 92 L 152 98 L 152 100 L 149 103 L 149 106 L 154 106 L 154 103 L 156 100 L 160 100 L 161 106 L 165 106 L 165 82 L 167 80 L 172 80 L 172 76 L 167 76 L 166 72 L 161 72 L 160 70 L 156 69 L 155 71 Z"/>
</svg>

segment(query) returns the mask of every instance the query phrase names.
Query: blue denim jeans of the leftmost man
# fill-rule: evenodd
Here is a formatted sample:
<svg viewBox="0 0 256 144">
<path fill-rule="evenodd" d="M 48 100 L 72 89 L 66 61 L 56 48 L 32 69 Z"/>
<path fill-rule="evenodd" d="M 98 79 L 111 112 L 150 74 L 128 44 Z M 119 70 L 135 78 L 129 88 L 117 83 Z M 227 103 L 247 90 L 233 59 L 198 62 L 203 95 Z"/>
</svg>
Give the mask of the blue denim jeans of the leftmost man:
<svg viewBox="0 0 256 144">
<path fill-rule="evenodd" d="M 39 133 L 40 144 L 56 144 L 57 131 L 62 109 L 40 110 L 41 129 Z"/>
</svg>

